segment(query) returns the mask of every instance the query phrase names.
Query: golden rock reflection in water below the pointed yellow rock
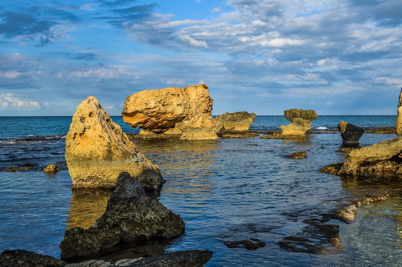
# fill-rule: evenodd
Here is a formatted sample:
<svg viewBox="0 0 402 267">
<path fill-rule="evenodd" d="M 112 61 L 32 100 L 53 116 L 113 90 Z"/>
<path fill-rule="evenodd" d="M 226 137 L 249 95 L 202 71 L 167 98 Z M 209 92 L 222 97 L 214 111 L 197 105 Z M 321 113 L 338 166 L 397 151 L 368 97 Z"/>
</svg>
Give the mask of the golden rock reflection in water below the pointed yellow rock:
<svg viewBox="0 0 402 267">
<path fill-rule="evenodd" d="M 66 228 L 88 229 L 105 212 L 111 192 L 110 188 L 72 188 Z"/>
</svg>

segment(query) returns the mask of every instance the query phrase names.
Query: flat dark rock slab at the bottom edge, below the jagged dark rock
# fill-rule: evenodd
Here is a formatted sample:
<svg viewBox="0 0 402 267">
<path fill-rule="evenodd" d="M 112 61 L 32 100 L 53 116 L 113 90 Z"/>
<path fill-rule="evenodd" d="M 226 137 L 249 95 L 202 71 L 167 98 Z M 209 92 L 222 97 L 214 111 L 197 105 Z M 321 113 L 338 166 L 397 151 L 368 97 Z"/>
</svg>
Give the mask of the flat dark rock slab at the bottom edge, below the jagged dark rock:
<svg viewBox="0 0 402 267">
<path fill-rule="evenodd" d="M 212 251 L 173 251 L 154 257 L 139 259 L 127 267 L 202 267 L 211 259 Z"/>
</svg>

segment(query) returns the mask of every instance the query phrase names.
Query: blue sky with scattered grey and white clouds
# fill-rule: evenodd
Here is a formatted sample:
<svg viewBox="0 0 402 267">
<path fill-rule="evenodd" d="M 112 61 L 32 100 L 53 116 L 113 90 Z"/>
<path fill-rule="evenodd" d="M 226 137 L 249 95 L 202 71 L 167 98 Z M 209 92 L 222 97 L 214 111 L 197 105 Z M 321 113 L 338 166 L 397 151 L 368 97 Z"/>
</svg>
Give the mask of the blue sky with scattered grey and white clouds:
<svg viewBox="0 0 402 267">
<path fill-rule="evenodd" d="M 0 116 L 205 83 L 212 115 L 396 115 L 400 0 L 0 2 Z"/>
</svg>

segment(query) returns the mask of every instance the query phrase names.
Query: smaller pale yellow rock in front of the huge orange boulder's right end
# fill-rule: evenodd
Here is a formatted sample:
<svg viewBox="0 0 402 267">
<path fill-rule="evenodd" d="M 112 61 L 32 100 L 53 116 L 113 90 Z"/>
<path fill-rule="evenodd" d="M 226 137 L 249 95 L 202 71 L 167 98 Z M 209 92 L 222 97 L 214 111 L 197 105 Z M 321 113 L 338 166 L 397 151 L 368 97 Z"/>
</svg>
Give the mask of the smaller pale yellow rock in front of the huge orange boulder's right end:
<svg viewBox="0 0 402 267">
<path fill-rule="evenodd" d="M 182 140 L 217 140 L 217 132 L 222 129 L 222 123 L 215 121 L 211 115 L 189 115 L 183 121 L 176 123 L 183 132 Z"/>
</svg>

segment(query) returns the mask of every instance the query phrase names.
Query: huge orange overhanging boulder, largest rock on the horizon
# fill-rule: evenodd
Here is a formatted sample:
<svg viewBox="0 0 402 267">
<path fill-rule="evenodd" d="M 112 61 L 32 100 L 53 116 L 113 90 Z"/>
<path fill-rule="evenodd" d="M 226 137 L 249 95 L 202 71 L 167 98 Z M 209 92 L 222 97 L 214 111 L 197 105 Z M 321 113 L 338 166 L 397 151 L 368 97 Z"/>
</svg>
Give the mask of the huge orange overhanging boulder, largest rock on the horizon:
<svg viewBox="0 0 402 267">
<path fill-rule="evenodd" d="M 211 115 L 212 101 L 205 84 L 146 90 L 126 98 L 121 116 L 131 127 L 162 133 L 189 115 Z"/>
</svg>

